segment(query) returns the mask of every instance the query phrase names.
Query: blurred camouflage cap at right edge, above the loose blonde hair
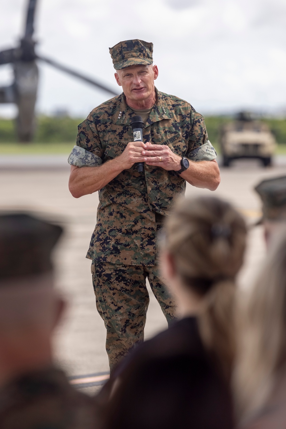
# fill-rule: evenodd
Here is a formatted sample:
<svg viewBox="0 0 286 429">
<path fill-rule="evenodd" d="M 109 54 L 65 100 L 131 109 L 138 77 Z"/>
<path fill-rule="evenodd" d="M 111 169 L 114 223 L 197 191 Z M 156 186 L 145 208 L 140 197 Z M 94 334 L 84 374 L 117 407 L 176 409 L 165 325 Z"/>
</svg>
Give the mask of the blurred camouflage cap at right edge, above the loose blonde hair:
<svg viewBox="0 0 286 429">
<path fill-rule="evenodd" d="M 263 180 L 255 190 L 262 199 L 262 219 L 286 220 L 286 176 Z"/>
</svg>

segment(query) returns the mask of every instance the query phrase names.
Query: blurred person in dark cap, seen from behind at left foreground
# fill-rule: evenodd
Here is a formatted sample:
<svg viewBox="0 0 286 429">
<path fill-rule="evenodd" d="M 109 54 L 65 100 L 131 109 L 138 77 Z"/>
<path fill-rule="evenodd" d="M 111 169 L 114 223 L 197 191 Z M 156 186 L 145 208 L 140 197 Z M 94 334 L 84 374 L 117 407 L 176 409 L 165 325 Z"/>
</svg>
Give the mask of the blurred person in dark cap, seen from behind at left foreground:
<svg viewBox="0 0 286 429">
<path fill-rule="evenodd" d="M 0 215 L 0 428 L 89 429 L 93 408 L 53 364 L 63 310 L 51 251 L 62 228 L 26 214 Z"/>
</svg>

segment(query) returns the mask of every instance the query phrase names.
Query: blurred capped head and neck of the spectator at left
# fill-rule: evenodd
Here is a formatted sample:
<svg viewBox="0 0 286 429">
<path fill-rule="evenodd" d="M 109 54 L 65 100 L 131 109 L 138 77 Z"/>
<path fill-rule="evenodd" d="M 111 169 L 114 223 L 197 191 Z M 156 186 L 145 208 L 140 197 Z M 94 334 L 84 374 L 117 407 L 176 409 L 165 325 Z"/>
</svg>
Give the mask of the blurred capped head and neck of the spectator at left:
<svg viewBox="0 0 286 429">
<path fill-rule="evenodd" d="M 51 251 L 61 233 L 27 214 L 0 215 L 0 385 L 51 365 L 51 333 L 63 309 Z"/>
</svg>

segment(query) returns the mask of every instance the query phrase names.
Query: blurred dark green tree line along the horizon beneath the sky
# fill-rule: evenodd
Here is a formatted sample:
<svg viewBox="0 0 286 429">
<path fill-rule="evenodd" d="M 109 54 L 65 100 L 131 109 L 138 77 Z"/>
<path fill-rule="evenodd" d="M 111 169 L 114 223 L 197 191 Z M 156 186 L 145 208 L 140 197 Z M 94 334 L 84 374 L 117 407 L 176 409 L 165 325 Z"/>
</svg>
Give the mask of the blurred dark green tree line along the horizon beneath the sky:
<svg viewBox="0 0 286 429">
<path fill-rule="evenodd" d="M 205 124 L 210 141 L 217 144 L 219 130 L 222 124 L 231 121 L 227 116 L 206 116 Z M 39 116 L 36 121 L 34 141 L 39 143 L 74 142 L 78 124 L 83 118 Z M 286 144 L 286 120 L 265 118 L 262 119 L 270 127 L 277 143 Z M 12 119 L 0 119 L 0 143 L 16 142 L 14 121 Z"/>
</svg>

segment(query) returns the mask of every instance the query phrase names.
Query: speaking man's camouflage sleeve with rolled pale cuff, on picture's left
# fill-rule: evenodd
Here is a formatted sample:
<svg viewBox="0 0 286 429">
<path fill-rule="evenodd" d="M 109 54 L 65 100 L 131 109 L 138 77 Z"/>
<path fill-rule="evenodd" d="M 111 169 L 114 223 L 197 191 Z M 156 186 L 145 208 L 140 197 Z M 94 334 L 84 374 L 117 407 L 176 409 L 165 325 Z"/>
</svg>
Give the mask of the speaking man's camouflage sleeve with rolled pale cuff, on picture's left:
<svg viewBox="0 0 286 429">
<path fill-rule="evenodd" d="M 103 156 L 104 151 L 99 134 L 90 114 L 85 121 L 78 125 L 76 146 L 69 154 L 68 162 L 70 165 L 78 167 L 94 167 L 102 164 Z"/>
</svg>

